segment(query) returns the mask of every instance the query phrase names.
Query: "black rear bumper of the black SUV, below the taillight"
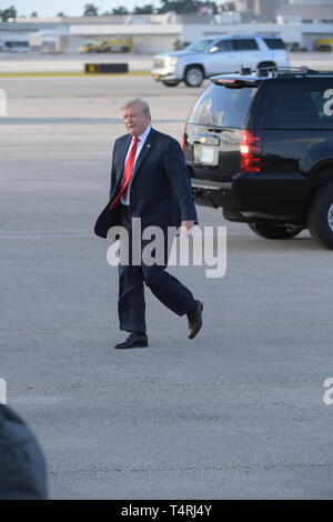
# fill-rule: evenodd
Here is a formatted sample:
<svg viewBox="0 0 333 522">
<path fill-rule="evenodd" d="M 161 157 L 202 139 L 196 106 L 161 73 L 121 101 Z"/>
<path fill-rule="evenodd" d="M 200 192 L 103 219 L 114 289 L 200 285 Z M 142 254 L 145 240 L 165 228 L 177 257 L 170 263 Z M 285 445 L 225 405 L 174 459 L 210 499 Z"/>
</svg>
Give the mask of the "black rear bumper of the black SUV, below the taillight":
<svg viewBox="0 0 333 522">
<path fill-rule="evenodd" d="M 311 191 L 309 179 L 300 173 L 240 173 L 229 183 L 195 178 L 191 181 L 198 204 L 252 212 L 253 215 L 256 212 L 258 215 L 302 218 Z"/>
</svg>

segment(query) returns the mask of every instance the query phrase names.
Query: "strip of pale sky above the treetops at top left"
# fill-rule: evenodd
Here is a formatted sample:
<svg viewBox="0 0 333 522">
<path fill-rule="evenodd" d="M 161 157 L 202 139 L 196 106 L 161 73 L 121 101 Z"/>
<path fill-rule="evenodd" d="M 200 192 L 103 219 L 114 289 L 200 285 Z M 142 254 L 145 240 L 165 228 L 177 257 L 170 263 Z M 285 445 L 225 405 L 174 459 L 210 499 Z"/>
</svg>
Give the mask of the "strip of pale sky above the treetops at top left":
<svg viewBox="0 0 333 522">
<path fill-rule="evenodd" d="M 94 3 L 100 8 L 100 12 L 111 11 L 113 8 L 124 6 L 132 10 L 135 6 L 142 7 L 153 3 L 159 7 L 159 0 L 0 0 L 0 10 L 14 6 L 19 14 L 31 14 L 37 11 L 40 17 L 54 17 L 62 11 L 68 16 L 79 17 L 83 13 L 85 3 Z"/>
</svg>

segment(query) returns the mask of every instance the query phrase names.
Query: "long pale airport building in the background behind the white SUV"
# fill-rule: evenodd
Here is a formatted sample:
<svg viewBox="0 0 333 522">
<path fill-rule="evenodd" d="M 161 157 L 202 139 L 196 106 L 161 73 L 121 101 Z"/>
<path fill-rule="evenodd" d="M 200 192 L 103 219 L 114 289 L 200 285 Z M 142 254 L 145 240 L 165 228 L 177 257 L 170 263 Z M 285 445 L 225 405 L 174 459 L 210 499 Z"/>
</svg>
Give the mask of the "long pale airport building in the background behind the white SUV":
<svg viewBox="0 0 333 522">
<path fill-rule="evenodd" d="M 0 23 L 0 49 L 21 46 L 46 53 L 75 53 L 87 41 L 129 39 L 133 52 L 154 54 L 209 34 L 251 33 L 280 36 L 292 50 L 313 51 L 320 41 L 333 42 L 333 0 L 218 3 L 218 14 L 18 18 Z M 330 46 L 323 43 L 323 48 L 329 50 Z"/>
</svg>

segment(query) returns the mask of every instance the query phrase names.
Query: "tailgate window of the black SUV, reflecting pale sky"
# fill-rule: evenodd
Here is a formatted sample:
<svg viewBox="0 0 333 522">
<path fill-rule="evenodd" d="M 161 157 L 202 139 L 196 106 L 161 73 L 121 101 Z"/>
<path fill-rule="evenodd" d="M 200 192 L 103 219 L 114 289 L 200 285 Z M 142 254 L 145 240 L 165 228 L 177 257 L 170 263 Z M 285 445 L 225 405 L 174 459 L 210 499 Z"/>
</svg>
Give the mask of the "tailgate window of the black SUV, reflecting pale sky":
<svg viewBox="0 0 333 522">
<path fill-rule="evenodd" d="M 256 91 L 256 88 L 229 89 L 211 83 L 196 101 L 189 123 L 240 129 Z"/>
</svg>

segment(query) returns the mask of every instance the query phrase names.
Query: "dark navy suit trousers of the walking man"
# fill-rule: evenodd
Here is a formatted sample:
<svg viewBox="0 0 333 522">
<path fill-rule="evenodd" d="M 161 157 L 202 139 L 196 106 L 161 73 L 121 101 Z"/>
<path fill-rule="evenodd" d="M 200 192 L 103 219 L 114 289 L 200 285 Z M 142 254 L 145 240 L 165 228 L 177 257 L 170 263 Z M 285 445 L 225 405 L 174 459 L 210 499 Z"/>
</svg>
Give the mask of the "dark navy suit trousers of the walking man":
<svg viewBox="0 0 333 522">
<path fill-rule="evenodd" d="M 130 207 L 121 204 L 120 224 L 127 229 L 131 244 L 132 217 Z M 148 243 L 149 241 L 141 240 L 141 252 Z M 144 284 L 150 288 L 161 303 L 178 315 L 183 315 L 195 308 L 196 303 L 191 291 L 165 271 L 168 249 L 165 249 L 164 264 L 162 265 L 157 263 L 148 265 L 143 261 L 140 265 L 132 264 L 131 253 L 129 263 L 119 263 L 118 312 L 120 330 L 127 332 L 147 331 Z"/>
</svg>

